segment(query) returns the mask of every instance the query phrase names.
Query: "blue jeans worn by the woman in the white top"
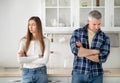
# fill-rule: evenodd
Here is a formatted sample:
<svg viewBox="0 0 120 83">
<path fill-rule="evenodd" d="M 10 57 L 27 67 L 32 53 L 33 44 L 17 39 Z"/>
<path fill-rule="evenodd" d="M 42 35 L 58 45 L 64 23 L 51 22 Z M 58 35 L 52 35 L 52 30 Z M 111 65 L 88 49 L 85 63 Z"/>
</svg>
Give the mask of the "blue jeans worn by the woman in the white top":
<svg viewBox="0 0 120 83">
<path fill-rule="evenodd" d="M 46 66 L 29 69 L 22 69 L 22 83 L 48 83 Z"/>
</svg>

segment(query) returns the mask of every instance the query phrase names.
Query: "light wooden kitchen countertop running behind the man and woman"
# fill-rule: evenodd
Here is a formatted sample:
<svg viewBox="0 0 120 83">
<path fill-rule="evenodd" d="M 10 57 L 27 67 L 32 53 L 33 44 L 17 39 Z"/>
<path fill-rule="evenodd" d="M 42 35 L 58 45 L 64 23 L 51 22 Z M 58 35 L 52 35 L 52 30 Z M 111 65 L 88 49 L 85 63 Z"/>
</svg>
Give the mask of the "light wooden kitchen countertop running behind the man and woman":
<svg viewBox="0 0 120 83">
<path fill-rule="evenodd" d="M 71 76 L 71 68 L 48 68 L 48 76 Z M 0 77 L 4 76 L 21 76 L 19 68 L 0 68 Z M 120 68 L 104 69 L 104 76 L 120 76 Z"/>
</svg>

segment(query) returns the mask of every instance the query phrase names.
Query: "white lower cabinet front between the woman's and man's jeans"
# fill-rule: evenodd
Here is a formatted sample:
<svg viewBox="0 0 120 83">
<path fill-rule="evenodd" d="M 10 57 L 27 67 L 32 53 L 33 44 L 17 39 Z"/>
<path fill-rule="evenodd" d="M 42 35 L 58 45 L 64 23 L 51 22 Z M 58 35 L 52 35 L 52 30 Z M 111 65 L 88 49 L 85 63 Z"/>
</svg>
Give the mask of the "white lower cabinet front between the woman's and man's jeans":
<svg viewBox="0 0 120 83">
<path fill-rule="evenodd" d="M 48 78 L 49 82 L 48 83 L 69 83 L 68 77 L 49 77 Z"/>
</svg>

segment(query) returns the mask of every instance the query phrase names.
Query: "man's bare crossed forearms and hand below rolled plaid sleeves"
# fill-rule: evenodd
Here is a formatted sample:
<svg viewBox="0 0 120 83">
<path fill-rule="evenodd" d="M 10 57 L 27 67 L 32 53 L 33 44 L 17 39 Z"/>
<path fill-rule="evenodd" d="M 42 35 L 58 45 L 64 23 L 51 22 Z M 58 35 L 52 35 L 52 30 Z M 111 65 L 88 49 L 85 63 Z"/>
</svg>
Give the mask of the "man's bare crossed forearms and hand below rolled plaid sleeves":
<svg viewBox="0 0 120 83">
<path fill-rule="evenodd" d="M 76 42 L 76 46 L 80 47 L 77 54 L 79 57 L 85 57 L 93 62 L 99 62 L 99 50 L 83 48 L 81 42 Z"/>
</svg>

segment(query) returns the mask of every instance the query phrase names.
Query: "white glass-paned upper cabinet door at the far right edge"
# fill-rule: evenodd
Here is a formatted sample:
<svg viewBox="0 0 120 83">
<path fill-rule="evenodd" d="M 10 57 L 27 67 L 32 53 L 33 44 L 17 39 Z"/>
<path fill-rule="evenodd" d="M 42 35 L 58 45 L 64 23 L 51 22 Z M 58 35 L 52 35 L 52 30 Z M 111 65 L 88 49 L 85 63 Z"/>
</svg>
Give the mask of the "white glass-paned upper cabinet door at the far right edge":
<svg viewBox="0 0 120 83">
<path fill-rule="evenodd" d="M 105 28 L 107 31 L 120 31 L 120 0 L 105 0 Z"/>
</svg>

